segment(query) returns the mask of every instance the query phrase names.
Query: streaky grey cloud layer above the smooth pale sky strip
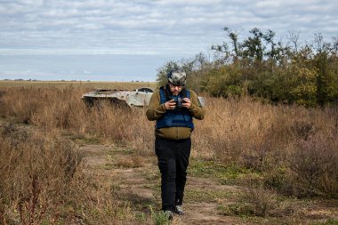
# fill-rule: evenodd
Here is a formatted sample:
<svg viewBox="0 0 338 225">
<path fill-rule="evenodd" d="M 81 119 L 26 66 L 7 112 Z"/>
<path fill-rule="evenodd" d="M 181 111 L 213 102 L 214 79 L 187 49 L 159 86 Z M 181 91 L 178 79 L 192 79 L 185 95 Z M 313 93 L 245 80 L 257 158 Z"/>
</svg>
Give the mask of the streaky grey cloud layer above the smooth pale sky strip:
<svg viewBox="0 0 338 225">
<path fill-rule="evenodd" d="M 338 36 L 335 0 L 0 0 L 0 55 L 192 56 L 252 28 Z"/>
</svg>

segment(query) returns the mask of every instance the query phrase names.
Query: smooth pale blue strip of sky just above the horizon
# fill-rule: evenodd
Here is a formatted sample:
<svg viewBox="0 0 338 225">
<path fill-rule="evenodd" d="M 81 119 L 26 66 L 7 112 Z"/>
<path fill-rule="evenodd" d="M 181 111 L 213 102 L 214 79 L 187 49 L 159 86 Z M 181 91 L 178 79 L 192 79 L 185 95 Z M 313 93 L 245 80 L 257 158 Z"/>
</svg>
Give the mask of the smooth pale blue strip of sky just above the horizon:
<svg viewBox="0 0 338 225">
<path fill-rule="evenodd" d="M 181 56 L 1 55 L 0 79 L 154 82 L 157 69 Z"/>
</svg>

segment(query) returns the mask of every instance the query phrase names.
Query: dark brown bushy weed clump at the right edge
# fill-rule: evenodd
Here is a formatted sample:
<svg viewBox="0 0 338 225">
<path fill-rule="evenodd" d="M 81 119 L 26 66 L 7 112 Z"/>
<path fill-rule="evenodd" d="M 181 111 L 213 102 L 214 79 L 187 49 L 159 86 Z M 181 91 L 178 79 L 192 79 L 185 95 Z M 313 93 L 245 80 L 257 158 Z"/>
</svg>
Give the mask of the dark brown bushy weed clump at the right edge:
<svg viewBox="0 0 338 225">
<path fill-rule="evenodd" d="M 317 133 L 295 143 L 288 154 L 293 192 L 298 197 L 338 197 L 337 136 Z"/>
</svg>

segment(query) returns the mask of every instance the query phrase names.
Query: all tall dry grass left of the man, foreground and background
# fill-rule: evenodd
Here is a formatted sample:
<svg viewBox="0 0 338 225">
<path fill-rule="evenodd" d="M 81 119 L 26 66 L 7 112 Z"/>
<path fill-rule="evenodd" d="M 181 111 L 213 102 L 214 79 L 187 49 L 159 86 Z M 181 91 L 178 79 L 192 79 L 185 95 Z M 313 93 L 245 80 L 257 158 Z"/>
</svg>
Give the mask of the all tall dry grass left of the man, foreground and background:
<svg viewBox="0 0 338 225">
<path fill-rule="evenodd" d="M 125 145 L 132 137 L 130 127 L 122 123 L 131 115 L 121 108 L 86 108 L 80 99 L 83 92 L 71 87 L 4 90 L 0 99 L 1 117 L 6 121 L 0 123 L 0 223 L 124 220 L 118 219 L 119 213 L 129 206 L 100 177 L 84 173 L 81 153 L 61 134 Z"/>
</svg>

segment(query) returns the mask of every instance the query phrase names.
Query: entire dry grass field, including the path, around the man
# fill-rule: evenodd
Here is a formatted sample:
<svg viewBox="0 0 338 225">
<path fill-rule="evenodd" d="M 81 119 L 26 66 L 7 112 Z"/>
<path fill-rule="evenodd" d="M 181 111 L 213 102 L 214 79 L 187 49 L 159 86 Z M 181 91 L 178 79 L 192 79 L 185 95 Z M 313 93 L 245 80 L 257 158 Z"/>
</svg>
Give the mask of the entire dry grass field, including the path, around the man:
<svg viewBox="0 0 338 225">
<path fill-rule="evenodd" d="M 1 81 L 0 223 L 168 223 L 145 108 L 81 100 L 141 86 Z M 205 99 L 171 224 L 338 223 L 338 108 Z"/>
</svg>

